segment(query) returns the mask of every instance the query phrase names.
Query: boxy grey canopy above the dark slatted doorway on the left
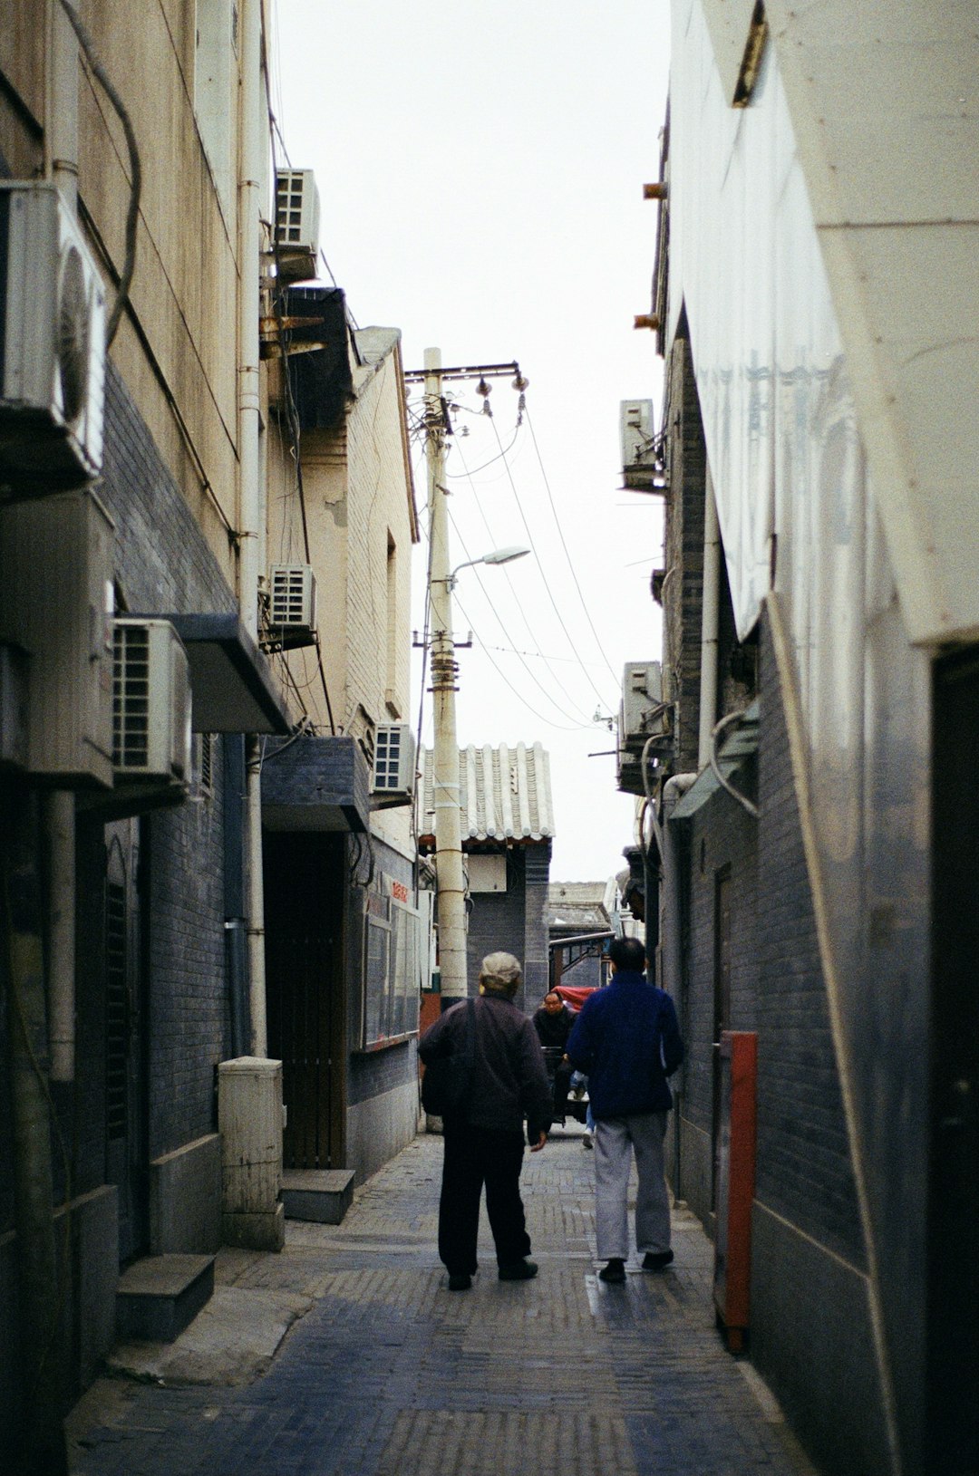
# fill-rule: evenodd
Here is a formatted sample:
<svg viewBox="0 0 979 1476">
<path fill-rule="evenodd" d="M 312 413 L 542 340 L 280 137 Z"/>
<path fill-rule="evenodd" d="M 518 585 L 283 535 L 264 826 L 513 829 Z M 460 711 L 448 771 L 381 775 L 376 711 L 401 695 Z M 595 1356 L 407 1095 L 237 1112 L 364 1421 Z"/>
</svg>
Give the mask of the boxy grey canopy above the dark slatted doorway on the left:
<svg viewBox="0 0 979 1476">
<path fill-rule="evenodd" d="M 366 831 L 371 770 L 360 744 L 303 735 L 266 744 L 261 824 L 272 831 Z"/>
</svg>

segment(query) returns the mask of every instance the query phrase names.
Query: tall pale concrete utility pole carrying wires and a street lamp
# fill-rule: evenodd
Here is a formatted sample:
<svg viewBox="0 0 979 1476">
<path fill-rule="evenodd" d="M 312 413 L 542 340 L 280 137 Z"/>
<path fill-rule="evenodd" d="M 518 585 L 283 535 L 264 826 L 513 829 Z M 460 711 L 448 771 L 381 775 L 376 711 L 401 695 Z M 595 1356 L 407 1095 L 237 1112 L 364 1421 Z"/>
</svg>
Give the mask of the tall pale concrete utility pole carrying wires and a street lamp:
<svg viewBox="0 0 979 1476">
<path fill-rule="evenodd" d="M 452 639 L 449 514 L 444 490 L 446 406 L 442 399 L 442 353 L 425 350 L 425 456 L 428 462 L 428 602 L 431 610 L 431 692 L 436 742 L 433 796 L 436 809 L 436 886 L 439 899 L 439 971 L 442 1008 L 465 999 L 465 880 L 459 745 L 455 725 L 456 660 Z"/>
</svg>

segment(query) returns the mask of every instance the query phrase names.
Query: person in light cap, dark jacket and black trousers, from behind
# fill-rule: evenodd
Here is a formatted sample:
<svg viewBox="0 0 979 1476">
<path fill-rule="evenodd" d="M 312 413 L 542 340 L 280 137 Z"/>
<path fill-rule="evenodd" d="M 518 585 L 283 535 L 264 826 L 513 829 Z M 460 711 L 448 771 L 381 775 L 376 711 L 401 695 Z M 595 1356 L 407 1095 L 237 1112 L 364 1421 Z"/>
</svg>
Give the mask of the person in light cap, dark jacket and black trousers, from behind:
<svg viewBox="0 0 979 1476">
<path fill-rule="evenodd" d="M 439 1258 L 450 1292 L 468 1292 L 475 1272 L 480 1196 L 486 1184 L 501 1281 L 527 1281 L 537 1268 L 520 1199 L 520 1168 L 527 1142 L 539 1153 L 551 1126 L 551 1083 L 536 1030 L 512 996 L 520 964 L 512 953 L 490 953 L 480 970 L 475 1004 L 473 1079 L 458 1113 L 444 1117 L 444 1159 L 439 1200 Z M 418 1054 L 428 1063 L 464 1049 L 468 1004 L 453 1005 L 425 1030 Z"/>
</svg>

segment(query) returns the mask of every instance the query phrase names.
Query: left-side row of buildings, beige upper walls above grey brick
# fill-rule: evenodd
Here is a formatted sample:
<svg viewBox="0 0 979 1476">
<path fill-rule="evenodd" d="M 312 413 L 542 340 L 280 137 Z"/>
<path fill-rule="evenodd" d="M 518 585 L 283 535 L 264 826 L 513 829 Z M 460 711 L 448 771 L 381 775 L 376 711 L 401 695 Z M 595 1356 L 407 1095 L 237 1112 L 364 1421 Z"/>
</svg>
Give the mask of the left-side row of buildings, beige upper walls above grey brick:
<svg viewBox="0 0 979 1476">
<path fill-rule="evenodd" d="M 120 1271 L 229 1232 L 223 1063 L 303 996 L 286 1165 L 411 1137 L 424 931 L 399 335 L 295 289 L 264 0 L 72 16 L 0 27 L 0 1446 L 50 1470 Z"/>
</svg>

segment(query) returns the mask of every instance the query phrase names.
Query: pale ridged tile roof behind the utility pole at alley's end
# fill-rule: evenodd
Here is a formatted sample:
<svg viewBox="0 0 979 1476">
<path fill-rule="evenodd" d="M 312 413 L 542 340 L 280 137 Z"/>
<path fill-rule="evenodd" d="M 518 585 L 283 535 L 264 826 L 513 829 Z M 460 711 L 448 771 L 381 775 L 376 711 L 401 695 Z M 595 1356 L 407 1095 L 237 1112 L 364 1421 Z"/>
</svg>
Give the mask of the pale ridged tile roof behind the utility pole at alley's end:
<svg viewBox="0 0 979 1476">
<path fill-rule="evenodd" d="M 431 748 L 421 750 L 419 840 L 433 840 L 436 810 Z M 542 841 L 554 835 L 551 763 L 539 742 L 515 747 L 470 744 L 459 750 L 462 843 L 467 840 Z"/>
</svg>

